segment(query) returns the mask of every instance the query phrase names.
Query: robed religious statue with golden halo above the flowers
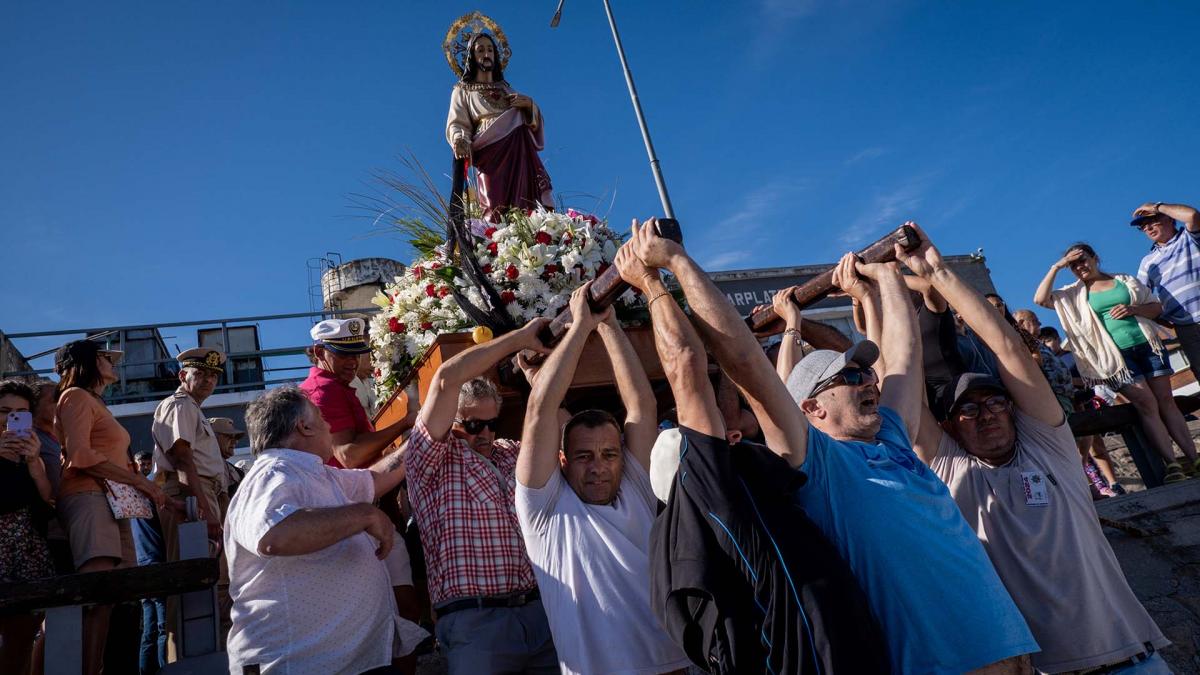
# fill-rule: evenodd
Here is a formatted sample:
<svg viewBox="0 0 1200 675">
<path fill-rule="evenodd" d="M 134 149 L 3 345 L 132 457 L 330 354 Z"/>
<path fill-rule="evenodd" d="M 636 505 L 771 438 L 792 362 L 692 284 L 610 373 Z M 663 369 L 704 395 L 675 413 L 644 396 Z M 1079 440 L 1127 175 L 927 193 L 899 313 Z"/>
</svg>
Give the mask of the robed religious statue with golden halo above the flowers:
<svg viewBox="0 0 1200 675">
<path fill-rule="evenodd" d="M 473 12 L 450 26 L 443 43 L 458 82 L 450 94 L 446 142 L 454 156 L 474 163 L 476 195 L 486 220 L 512 208 L 553 208 L 541 110 L 504 80 L 511 49 L 491 18 Z"/>
</svg>

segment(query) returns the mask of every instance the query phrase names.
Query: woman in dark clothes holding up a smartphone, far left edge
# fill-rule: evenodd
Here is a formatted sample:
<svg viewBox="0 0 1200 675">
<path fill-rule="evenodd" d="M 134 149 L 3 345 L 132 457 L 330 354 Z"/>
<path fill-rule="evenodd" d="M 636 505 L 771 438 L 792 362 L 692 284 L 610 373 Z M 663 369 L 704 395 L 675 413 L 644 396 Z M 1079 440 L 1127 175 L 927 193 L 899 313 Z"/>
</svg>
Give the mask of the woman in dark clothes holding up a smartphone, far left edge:
<svg viewBox="0 0 1200 675">
<path fill-rule="evenodd" d="M 38 454 L 42 444 L 32 429 L 36 401 L 29 384 L 0 382 L 0 583 L 54 575 L 50 550 L 35 525 L 35 512 L 48 508 L 53 500 Z M 0 673 L 29 671 L 41 622 L 38 614 L 0 617 Z"/>
</svg>

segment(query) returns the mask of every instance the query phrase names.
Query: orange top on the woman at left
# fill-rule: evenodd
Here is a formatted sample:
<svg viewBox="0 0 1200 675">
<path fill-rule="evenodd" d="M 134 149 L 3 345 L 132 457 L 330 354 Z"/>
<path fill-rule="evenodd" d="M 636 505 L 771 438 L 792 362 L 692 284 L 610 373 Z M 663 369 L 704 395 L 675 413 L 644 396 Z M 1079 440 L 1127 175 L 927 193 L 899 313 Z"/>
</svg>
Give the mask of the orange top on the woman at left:
<svg viewBox="0 0 1200 675">
<path fill-rule="evenodd" d="M 100 479 L 83 470 L 104 460 L 133 472 L 128 455 L 130 432 L 91 392 L 72 387 L 62 393 L 54 413 L 54 434 L 62 443 L 59 497 L 103 491 Z"/>
</svg>

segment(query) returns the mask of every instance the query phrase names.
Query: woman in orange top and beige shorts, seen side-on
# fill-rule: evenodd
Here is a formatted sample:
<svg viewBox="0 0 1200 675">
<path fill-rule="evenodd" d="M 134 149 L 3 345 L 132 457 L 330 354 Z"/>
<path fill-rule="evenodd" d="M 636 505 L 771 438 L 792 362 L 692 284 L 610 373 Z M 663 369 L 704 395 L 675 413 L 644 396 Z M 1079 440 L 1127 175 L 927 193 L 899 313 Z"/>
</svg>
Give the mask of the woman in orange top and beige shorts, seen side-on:
<svg viewBox="0 0 1200 675">
<path fill-rule="evenodd" d="M 54 430 L 62 442 L 62 479 L 58 510 L 79 572 L 131 567 L 136 562 L 128 520 L 118 520 L 106 497 L 104 482 L 137 488 L 162 508 L 166 495 L 158 485 L 133 471 L 130 435 L 108 411 L 101 394 L 116 382 L 121 352 L 101 350 L 90 340 L 76 340 L 54 354 L 59 399 Z M 98 674 L 104 664 L 110 605 L 84 610 L 84 673 Z"/>
</svg>

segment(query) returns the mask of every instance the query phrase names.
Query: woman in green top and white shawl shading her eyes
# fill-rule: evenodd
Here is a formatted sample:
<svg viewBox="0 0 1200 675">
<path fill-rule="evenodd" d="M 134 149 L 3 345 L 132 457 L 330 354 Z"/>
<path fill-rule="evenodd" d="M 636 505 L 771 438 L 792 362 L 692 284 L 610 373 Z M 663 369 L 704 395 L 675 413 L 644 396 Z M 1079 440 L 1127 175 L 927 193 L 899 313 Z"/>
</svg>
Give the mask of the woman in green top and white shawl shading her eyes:
<svg viewBox="0 0 1200 675">
<path fill-rule="evenodd" d="M 1091 246 L 1073 244 L 1050 267 L 1033 301 L 1058 312 L 1084 383 L 1104 384 L 1133 404 L 1150 443 L 1166 462 L 1163 480 L 1183 480 L 1200 462 L 1175 405 L 1171 366 L 1152 321 L 1163 313 L 1163 305 L 1136 279 L 1102 271 L 1099 263 Z M 1070 268 L 1078 281 L 1055 289 L 1055 276 L 1063 268 Z M 1187 456 L 1187 471 L 1175 460 L 1171 440 Z"/>
</svg>

